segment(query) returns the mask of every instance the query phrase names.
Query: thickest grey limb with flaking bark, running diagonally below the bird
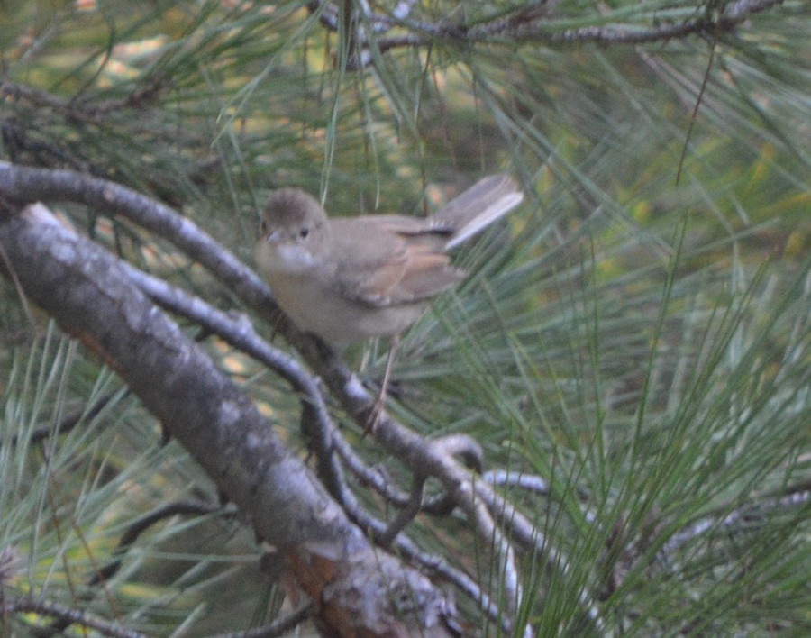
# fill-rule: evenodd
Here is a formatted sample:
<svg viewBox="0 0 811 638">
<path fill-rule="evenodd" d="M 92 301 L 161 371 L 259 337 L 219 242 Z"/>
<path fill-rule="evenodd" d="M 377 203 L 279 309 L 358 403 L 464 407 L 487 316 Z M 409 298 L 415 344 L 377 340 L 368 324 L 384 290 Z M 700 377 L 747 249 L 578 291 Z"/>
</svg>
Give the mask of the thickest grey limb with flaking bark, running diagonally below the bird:
<svg viewBox="0 0 811 638">
<path fill-rule="evenodd" d="M 324 631 L 451 635 L 446 623 L 456 611 L 446 595 L 369 544 L 251 400 L 112 254 L 42 205 L 4 214 L 0 246 L 5 275 L 14 271 L 32 301 L 115 369 L 257 536 L 284 554 Z M 404 596 L 419 605 L 403 608 Z"/>
</svg>

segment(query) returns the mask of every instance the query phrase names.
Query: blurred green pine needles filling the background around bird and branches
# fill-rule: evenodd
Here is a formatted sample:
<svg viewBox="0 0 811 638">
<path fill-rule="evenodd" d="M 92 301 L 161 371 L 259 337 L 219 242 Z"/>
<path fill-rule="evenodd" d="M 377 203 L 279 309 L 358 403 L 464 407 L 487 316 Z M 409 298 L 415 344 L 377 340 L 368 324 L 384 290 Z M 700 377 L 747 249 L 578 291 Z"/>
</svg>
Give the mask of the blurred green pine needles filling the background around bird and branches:
<svg viewBox="0 0 811 638">
<path fill-rule="evenodd" d="M 270 188 L 304 187 L 333 214 L 424 214 L 480 175 L 515 174 L 525 204 L 460 254 L 471 277 L 406 335 L 391 407 L 426 435 L 475 436 L 490 468 L 549 481 L 549 495 L 505 488 L 555 550 L 522 558 L 522 618 L 540 635 L 806 633 L 809 5 L 731 32 L 596 44 L 417 27 L 517 7 L 550 36 L 631 31 L 729 5 L 420 2 L 413 24 L 372 41 L 427 43 L 371 47 L 358 70 L 342 65 L 330 6 L 5 0 L 2 158 L 137 188 L 248 263 Z M 159 238 L 60 210 L 139 267 L 236 304 Z M 235 519 L 168 517 L 103 588 L 87 585 L 141 515 L 214 489 L 114 374 L 14 287 L 2 295 L 0 550 L 19 560 L 0 583 L 156 635 L 274 617 L 278 587 Z M 206 344 L 304 454 L 287 387 Z M 364 344 L 349 359 L 378 378 L 384 353 Z M 488 573 L 464 521 L 409 532 Z M 551 565 L 560 556 L 565 569 Z M 584 621 L 584 591 L 600 629 Z M 497 633 L 460 605 L 471 632 Z"/>
</svg>

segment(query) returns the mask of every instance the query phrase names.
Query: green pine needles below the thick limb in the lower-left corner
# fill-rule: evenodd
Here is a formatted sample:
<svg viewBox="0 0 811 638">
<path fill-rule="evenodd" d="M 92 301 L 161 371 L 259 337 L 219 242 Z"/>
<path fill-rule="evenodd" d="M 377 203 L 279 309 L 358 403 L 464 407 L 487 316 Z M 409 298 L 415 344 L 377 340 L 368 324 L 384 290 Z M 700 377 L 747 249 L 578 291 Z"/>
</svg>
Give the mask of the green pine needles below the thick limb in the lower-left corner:
<svg viewBox="0 0 811 638">
<path fill-rule="evenodd" d="M 2 574 L 5 594 L 43 597 L 150 634 L 168 634 L 203 610 L 214 618 L 209 630 L 239 626 L 233 617 L 215 622 L 223 609 L 250 618 L 256 602 L 241 608 L 241 597 L 223 595 L 223 585 L 267 586 L 251 534 L 227 520 L 167 516 L 117 551 L 156 507 L 199 501 L 210 488 L 182 448 L 161 444 L 157 424 L 115 376 L 53 326 L 7 362 L 0 547 L 14 548 L 17 561 Z M 103 587 L 93 584 L 117 559 L 121 569 Z M 28 635 L 32 621 L 9 615 L 0 633 Z"/>
</svg>

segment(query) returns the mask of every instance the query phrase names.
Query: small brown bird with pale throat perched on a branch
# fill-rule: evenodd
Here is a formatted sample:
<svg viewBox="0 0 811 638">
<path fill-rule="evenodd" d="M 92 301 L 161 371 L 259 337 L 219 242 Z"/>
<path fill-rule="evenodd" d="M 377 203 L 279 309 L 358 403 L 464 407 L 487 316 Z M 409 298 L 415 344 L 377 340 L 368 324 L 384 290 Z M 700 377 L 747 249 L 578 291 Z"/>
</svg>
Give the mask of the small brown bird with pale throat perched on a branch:
<svg viewBox="0 0 811 638">
<path fill-rule="evenodd" d="M 333 348 L 393 336 L 382 406 L 400 333 L 467 273 L 447 254 L 521 203 L 508 175 L 481 179 L 429 217 L 329 219 L 314 197 L 279 188 L 262 215 L 255 257 L 278 305 Z"/>
</svg>

